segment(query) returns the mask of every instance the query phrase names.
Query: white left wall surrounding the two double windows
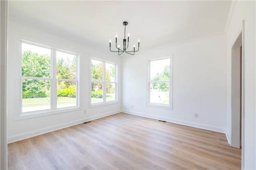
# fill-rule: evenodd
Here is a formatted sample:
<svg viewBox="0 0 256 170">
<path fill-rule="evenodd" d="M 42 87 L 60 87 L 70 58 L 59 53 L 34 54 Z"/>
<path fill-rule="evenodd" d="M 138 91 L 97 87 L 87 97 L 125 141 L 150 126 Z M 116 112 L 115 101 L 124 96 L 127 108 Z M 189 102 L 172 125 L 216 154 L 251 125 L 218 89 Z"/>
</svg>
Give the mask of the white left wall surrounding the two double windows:
<svg viewBox="0 0 256 170">
<path fill-rule="evenodd" d="M 121 102 L 114 105 L 89 108 L 89 61 L 90 57 L 105 59 L 118 64 L 118 79 L 121 79 L 121 59 L 118 56 L 103 53 L 97 49 L 86 47 L 85 45 L 72 42 L 65 38 L 55 36 L 26 26 L 14 20 L 9 20 L 8 28 L 8 59 L 7 59 L 7 125 L 8 125 L 8 142 L 28 138 L 30 136 L 56 130 L 58 128 L 67 127 L 70 125 L 82 123 L 106 115 L 119 113 Z M 37 117 L 25 120 L 14 121 L 14 113 L 17 113 L 16 105 L 19 92 L 19 40 L 20 38 L 31 42 L 72 51 L 80 54 L 80 104 L 81 110 L 56 115 Z M 118 89 L 121 89 L 121 83 L 118 84 Z M 121 93 L 118 93 L 118 98 L 121 98 Z M 84 110 L 87 111 L 84 114 Z"/>
</svg>

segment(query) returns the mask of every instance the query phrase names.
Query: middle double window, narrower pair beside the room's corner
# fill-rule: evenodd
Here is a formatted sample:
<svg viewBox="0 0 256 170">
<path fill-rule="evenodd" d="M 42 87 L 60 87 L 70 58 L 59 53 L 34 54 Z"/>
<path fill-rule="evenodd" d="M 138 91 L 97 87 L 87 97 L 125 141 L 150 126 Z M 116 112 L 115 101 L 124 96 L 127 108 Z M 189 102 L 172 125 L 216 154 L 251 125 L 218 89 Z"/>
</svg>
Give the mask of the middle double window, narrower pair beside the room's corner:
<svg viewBox="0 0 256 170">
<path fill-rule="evenodd" d="M 91 105 L 116 102 L 116 64 L 91 59 Z"/>
</svg>

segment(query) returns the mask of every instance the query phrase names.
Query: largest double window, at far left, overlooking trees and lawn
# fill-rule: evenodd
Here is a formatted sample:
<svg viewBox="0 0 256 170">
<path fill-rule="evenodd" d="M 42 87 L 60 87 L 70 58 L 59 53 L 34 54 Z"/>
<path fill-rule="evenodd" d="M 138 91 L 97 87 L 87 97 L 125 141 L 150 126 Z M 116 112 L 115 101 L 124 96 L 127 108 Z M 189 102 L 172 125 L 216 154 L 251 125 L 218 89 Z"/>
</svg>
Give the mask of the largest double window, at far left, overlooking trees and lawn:
<svg viewBox="0 0 256 170">
<path fill-rule="evenodd" d="M 21 114 L 78 107 L 78 55 L 21 42 Z"/>
</svg>

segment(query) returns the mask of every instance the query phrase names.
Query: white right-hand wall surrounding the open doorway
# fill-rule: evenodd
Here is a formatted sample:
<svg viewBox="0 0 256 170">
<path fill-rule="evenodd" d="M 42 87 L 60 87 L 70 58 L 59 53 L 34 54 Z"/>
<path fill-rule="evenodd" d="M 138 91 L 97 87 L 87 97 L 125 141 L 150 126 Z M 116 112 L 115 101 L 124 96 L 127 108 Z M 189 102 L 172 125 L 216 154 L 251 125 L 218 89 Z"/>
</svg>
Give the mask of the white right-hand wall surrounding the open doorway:
<svg viewBox="0 0 256 170">
<path fill-rule="evenodd" d="M 227 31 L 227 132 L 231 133 L 231 49 L 244 20 L 244 144 L 242 168 L 256 169 L 255 1 L 237 1 Z"/>
</svg>

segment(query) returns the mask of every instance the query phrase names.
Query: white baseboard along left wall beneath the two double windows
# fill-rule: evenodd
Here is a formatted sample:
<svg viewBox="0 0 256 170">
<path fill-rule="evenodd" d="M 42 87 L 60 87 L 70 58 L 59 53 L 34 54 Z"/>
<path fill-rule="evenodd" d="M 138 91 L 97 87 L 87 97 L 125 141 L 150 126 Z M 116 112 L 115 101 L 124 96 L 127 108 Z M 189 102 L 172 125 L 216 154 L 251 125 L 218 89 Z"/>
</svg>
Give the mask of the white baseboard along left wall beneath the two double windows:
<svg viewBox="0 0 256 170">
<path fill-rule="evenodd" d="M 85 119 L 79 119 L 79 120 L 76 120 L 76 121 L 62 123 L 60 125 L 55 125 L 55 126 L 51 126 L 51 127 L 46 127 L 46 128 L 40 128 L 40 129 L 32 130 L 32 131 L 29 131 L 29 132 L 15 134 L 15 135 L 12 135 L 12 136 L 8 136 L 7 137 L 7 142 L 8 143 L 16 142 L 18 140 L 23 140 L 23 139 L 26 139 L 26 138 L 31 138 L 33 136 L 38 136 L 40 134 L 52 132 L 54 130 L 59 130 L 59 129 L 66 128 L 66 127 L 71 127 L 71 126 L 74 126 L 74 125 L 78 125 L 80 123 L 92 121 L 92 120 L 99 119 L 101 117 L 106 117 L 106 116 L 109 116 L 109 115 L 114 115 L 114 114 L 120 113 L 120 112 L 121 112 L 120 110 L 116 110 L 116 111 L 104 113 L 104 114 L 101 114 L 101 115 L 87 117 Z"/>
</svg>

